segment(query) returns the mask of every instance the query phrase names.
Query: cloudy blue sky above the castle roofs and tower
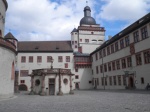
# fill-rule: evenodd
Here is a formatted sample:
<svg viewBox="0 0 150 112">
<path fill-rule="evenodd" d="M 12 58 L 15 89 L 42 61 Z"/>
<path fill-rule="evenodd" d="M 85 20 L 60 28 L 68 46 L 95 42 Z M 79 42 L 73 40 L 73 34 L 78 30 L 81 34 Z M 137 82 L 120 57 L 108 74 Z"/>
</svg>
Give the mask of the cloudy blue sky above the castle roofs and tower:
<svg viewBox="0 0 150 112">
<path fill-rule="evenodd" d="M 150 12 L 150 0 L 7 0 L 5 34 L 19 41 L 70 40 L 83 9 L 105 27 L 105 40 Z"/>
</svg>

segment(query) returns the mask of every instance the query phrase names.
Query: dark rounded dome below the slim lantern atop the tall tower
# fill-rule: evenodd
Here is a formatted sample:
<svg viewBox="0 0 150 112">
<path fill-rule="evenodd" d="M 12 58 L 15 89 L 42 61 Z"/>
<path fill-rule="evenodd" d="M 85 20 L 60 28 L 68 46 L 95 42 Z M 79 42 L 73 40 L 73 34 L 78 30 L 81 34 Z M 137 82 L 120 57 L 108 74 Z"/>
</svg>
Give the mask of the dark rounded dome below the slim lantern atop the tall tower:
<svg viewBox="0 0 150 112">
<path fill-rule="evenodd" d="M 83 17 L 80 21 L 80 25 L 82 24 L 86 24 L 86 25 L 96 25 L 96 21 L 94 18 L 87 16 L 87 17 Z"/>
</svg>

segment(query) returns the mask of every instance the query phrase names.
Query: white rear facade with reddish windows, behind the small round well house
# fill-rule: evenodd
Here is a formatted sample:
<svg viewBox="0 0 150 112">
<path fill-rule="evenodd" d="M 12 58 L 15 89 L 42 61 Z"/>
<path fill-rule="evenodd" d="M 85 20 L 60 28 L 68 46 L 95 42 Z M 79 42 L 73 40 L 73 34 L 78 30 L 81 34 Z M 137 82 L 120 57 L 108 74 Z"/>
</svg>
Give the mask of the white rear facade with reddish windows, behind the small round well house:
<svg viewBox="0 0 150 112">
<path fill-rule="evenodd" d="M 29 62 L 29 57 L 33 57 L 33 61 Z M 38 62 L 38 56 L 41 56 L 41 61 Z M 47 57 L 51 56 L 53 59 L 53 64 L 51 62 L 47 62 Z M 62 62 L 59 62 L 59 56 L 62 56 Z M 66 57 L 69 57 L 69 61 L 66 61 Z M 21 58 L 25 57 L 25 61 L 23 61 Z M 23 61 L 23 62 L 21 62 Z M 19 52 L 17 56 L 17 68 L 19 70 L 19 85 L 25 85 L 27 86 L 27 90 L 31 90 L 31 77 L 28 76 L 29 74 L 32 73 L 32 70 L 35 69 L 43 69 L 43 68 L 51 68 L 51 65 L 53 68 L 66 68 L 66 69 L 71 69 L 71 71 L 74 72 L 73 68 L 73 52 L 67 52 L 67 53 L 23 53 Z M 67 64 L 67 65 L 66 65 Z M 22 75 L 21 71 L 27 71 L 27 74 Z M 23 83 L 21 83 L 21 81 Z M 57 81 L 57 80 L 56 80 Z M 46 87 L 45 87 L 46 89 Z"/>
</svg>

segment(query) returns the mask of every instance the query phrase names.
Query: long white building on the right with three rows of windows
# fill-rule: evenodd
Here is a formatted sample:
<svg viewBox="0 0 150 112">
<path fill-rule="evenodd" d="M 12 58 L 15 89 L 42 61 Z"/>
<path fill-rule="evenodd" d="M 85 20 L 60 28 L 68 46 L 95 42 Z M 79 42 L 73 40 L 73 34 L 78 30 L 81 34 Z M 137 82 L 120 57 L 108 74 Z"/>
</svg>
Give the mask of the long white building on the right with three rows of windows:
<svg viewBox="0 0 150 112">
<path fill-rule="evenodd" d="M 147 14 L 91 53 L 94 87 L 145 89 L 150 83 L 149 17 Z"/>
</svg>

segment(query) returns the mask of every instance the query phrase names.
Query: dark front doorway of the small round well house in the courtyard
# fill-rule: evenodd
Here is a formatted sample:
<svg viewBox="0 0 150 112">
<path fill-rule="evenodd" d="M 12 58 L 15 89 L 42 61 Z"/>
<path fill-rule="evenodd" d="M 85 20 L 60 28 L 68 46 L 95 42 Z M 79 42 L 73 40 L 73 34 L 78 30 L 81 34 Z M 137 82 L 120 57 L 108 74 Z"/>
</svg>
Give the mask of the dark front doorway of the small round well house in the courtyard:
<svg viewBox="0 0 150 112">
<path fill-rule="evenodd" d="M 55 95 L 55 78 L 49 79 L 49 95 Z"/>
</svg>

